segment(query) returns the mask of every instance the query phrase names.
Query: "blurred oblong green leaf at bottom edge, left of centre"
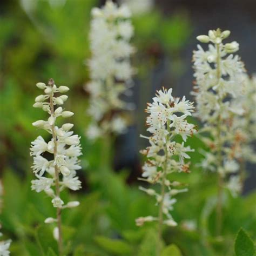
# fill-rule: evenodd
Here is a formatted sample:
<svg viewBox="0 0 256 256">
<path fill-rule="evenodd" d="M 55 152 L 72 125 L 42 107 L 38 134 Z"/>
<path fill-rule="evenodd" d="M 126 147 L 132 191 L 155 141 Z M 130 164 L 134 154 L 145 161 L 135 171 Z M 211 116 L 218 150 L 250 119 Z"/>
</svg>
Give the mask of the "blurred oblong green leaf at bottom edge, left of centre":
<svg viewBox="0 0 256 256">
<path fill-rule="evenodd" d="M 130 245 L 124 241 L 110 239 L 103 236 L 97 236 L 95 240 L 100 247 L 104 248 L 104 250 L 110 253 L 125 255 L 132 252 Z"/>
</svg>

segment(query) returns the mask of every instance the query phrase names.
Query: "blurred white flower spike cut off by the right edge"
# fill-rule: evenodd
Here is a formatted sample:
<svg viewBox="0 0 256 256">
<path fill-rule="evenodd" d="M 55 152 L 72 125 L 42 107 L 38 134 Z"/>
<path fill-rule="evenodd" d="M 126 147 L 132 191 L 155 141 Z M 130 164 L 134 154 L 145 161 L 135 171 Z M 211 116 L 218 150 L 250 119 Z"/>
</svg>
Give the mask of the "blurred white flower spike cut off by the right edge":
<svg viewBox="0 0 256 256">
<path fill-rule="evenodd" d="M 256 163 L 253 147 L 256 139 L 256 77 L 245 76 L 242 88 L 242 94 L 232 100 L 232 105 L 240 106 L 243 114 L 242 116 L 232 114 L 230 117 L 231 133 L 235 138 L 231 154 L 240 164 L 240 172 L 233 175 L 227 184 L 233 196 L 237 196 L 244 185 L 246 161 Z"/>
</svg>

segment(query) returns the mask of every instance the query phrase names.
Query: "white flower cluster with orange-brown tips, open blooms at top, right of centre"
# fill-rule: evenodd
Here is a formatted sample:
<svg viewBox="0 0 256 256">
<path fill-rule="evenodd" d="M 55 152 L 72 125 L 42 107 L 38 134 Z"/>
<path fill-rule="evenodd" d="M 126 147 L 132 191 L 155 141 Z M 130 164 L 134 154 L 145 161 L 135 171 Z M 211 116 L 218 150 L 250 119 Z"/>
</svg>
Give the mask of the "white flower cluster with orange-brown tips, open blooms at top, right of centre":
<svg viewBox="0 0 256 256">
<path fill-rule="evenodd" d="M 182 184 L 179 181 L 170 181 L 167 176 L 174 172 L 190 172 L 190 163 L 188 152 L 193 150 L 190 146 L 185 146 L 187 137 L 192 136 L 196 131 L 193 124 L 188 123 L 186 118 L 191 116 L 193 103 L 183 97 L 173 98 L 172 89 L 157 91 L 153 103 L 147 105 L 146 124 L 147 131 L 151 133 L 150 137 L 142 136 L 149 140 L 150 146 L 142 153 L 147 157 L 143 166 L 143 174 L 140 180 L 147 181 L 150 184 L 160 184 L 160 193 L 152 188 L 139 187 L 150 196 L 156 198 L 159 204 L 158 217 L 140 217 L 136 220 L 138 226 L 143 225 L 146 221 L 158 220 L 169 226 L 176 226 L 170 213 L 173 210 L 173 204 L 176 199 L 173 198 L 178 193 L 186 192 L 187 188 L 179 188 Z M 176 142 L 179 136 L 182 143 Z M 163 214 L 166 216 L 165 220 Z"/>
</svg>

